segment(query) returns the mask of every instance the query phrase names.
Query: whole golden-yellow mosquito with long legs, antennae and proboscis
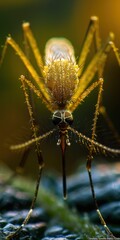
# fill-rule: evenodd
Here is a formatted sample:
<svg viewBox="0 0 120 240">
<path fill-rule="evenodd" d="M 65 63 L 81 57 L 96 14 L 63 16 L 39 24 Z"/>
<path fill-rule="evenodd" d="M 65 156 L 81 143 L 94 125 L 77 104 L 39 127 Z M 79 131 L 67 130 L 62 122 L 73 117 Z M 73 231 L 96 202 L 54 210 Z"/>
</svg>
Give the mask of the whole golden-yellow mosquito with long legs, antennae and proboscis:
<svg viewBox="0 0 120 240">
<path fill-rule="evenodd" d="M 30 63 L 29 58 L 21 50 L 17 43 L 12 39 L 12 37 L 7 37 L 2 52 L 1 62 L 3 61 L 7 46 L 10 45 L 15 50 L 21 61 L 24 63 L 26 69 L 32 77 L 31 81 L 24 75 L 21 75 L 20 81 L 31 120 L 33 138 L 28 140 L 27 142 L 13 145 L 11 146 L 11 149 L 25 149 L 26 147 L 30 147 L 30 145 L 35 144 L 39 164 L 39 174 L 35 195 L 28 215 L 26 216 L 20 228 L 18 228 L 15 233 L 8 236 L 8 239 L 12 239 L 14 236 L 16 236 L 20 232 L 21 228 L 28 222 L 31 216 L 37 198 L 41 173 L 44 167 L 44 161 L 40 148 L 40 141 L 43 138 L 47 138 L 49 135 L 53 134 L 53 132 L 55 131 L 59 132 L 57 145 L 60 146 L 62 153 L 64 198 L 67 197 L 65 152 L 67 147 L 70 146 L 69 132 L 71 131 L 79 137 L 79 142 L 86 144 L 88 147 L 86 168 L 89 175 L 90 186 L 96 211 L 106 232 L 109 234 L 110 237 L 112 237 L 112 239 L 116 239 L 106 225 L 104 218 L 98 208 L 91 174 L 91 163 L 93 160 L 93 154 L 95 152 L 120 155 L 119 149 L 109 148 L 96 141 L 96 124 L 98 115 L 100 112 L 103 115 L 106 114 L 106 109 L 102 105 L 101 98 L 104 82 L 103 71 L 110 50 L 113 50 L 118 64 L 120 65 L 120 56 L 114 44 L 114 34 L 110 33 L 108 40 L 104 45 L 102 45 L 99 36 L 98 17 L 92 16 L 78 62 L 76 62 L 74 48 L 72 44 L 65 38 L 52 38 L 47 42 L 45 47 L 45 60 L 43 62 L 35 37 L 33 36 L 33 33 L 31 31 L 30 24 L 28 22 L 25 22 L 23 23 L 22 27 L 25 38 L 27 39 L 33 51 L 40 73 L 37 73 L 37 71 Z M 95 41 L 96 53 L 88 66 L 84 68 L 85 61 L 87 59 L 88 52 L 90 50 L 93 40 Z M 98 79 L 92 82 L 96 73 L 98 74 Z M 46 107 L 52 113 L 52 121 L 55 125 L 55 128 L 41 136 L 37 135 L 28 89 L 32 90 L 34 94 L 37 95 L 37 97 L 44 102 Z M 73 112 L 83 102 L 83 100 L 85 100 L 85 98 L 95 89 L 98 89 L 98 95 L 95 105 L 92 134 L 91 138 L 88 138 L 87 136 L 83 135 L 72 127 Z"/>
</svg>

